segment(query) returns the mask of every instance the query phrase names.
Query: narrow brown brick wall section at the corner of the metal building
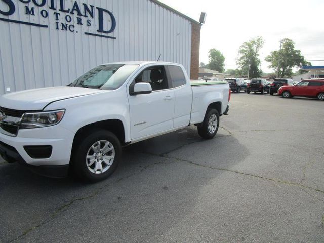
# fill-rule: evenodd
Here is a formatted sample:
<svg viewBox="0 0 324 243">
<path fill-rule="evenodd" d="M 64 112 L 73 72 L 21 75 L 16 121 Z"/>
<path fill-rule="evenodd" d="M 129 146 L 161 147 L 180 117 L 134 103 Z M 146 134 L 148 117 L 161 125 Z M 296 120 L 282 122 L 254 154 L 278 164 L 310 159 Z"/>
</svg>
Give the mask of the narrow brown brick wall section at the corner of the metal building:
<svg viewBox="0 0 324 243">
<path fill-rule="evenodd" d="M 191 22 L 191 67 L 190 79 L 198 79 L 199 74 L 199 49 L 201 25 Z"/>
</svg>

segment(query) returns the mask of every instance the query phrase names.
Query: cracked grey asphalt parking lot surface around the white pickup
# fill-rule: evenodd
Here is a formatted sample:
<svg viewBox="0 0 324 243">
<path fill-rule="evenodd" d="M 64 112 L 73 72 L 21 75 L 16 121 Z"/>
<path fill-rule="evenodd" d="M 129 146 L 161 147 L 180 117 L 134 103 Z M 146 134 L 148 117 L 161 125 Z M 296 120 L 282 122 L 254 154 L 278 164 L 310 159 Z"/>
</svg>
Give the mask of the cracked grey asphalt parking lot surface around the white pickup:
<svg viewBox="0 0 324 243">
<path fill-rule="evenodd" d="M 324 242 L 324 102 L 230 104 L 216 138 L 131 145 L 97 184 L 0 162 L 0 242 Z"/>
</svg>

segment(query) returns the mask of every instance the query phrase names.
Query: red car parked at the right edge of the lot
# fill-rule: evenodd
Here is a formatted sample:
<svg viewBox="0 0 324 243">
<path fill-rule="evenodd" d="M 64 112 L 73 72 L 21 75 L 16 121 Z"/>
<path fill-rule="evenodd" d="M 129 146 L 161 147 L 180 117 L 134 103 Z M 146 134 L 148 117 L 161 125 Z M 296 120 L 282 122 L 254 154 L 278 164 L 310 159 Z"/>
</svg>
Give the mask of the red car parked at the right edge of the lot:
<svg viewBox="0 0 324 243">
<path fill-rule="evenodd" d="M 281 86 L 278 94 L 284 98 L 304 96 L 317 97 L 319 100 L 324 100 L 324 79 L 303 80 L 293 86 Z"/>
</svg>

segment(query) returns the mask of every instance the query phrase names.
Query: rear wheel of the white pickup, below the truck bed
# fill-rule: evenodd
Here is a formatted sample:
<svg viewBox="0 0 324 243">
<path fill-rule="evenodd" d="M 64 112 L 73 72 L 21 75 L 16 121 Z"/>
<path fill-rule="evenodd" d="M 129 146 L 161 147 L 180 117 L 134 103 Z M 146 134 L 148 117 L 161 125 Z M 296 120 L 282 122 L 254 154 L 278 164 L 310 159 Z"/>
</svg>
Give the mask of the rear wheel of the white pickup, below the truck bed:
<svg viewBox="0 0 324 243">
<path fill-rule="evenodd" d="M 217 134 L 219 127 L 219 114 L 216 109 L 209 109 L 203 123 L 198 126 L 198 134 L 205 139 L 211 139 Z"/>
</svg>

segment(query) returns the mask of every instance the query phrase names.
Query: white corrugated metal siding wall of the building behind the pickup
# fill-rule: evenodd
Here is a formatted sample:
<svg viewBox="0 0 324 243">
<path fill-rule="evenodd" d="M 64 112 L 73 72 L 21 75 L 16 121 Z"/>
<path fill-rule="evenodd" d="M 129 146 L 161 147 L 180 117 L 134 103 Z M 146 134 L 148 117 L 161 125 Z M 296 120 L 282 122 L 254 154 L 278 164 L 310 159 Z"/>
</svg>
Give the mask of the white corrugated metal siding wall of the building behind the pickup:
<svg viewBox="0 0 324 243">
<path fill-rule="evenodd" d="M 49 2 L 49 1 L 48 1 Z M 57 2 L 59 2 L 57 0 Z M 85 35 L 96 33 L 98 16 L 95 9 L 92 26 L 76 25 L 76 32 L 56 29 L 54 10 L 48 4 L 36 7 L 32 2 L 15 1 L 16 11 L 7 17 L 25 22 L 48 25 L 49 28 L 0 21 L 0 93 L 49 86 L 67 85 L 89 69 L 108 62 L 160 61 L 184 65 L 190 76 L 191 23 L 189 20 L 149 0 L 77 0 L 88 6 L 107 9 L 116 18 L 116 29 L 107 39 Z M 25 14 L 25 6 L 35 7 L 35 16 Z M 72 8 L 72 1 L 66 1 Z M 0 1 L 0 9 L 7 5 Z M 58 9 L 58 7 L 57 7 Z M 82 8 L 83 9 L 83 8 Z M 47 10 L 48 18 L 41 16 Z M 59 22 L 66 23 L 66 13 L 59 12 Z M 108 25 L 108 24 L 107 24 Z M 106 26 L 107 27 L 107 26 Z"/>
</svg>

